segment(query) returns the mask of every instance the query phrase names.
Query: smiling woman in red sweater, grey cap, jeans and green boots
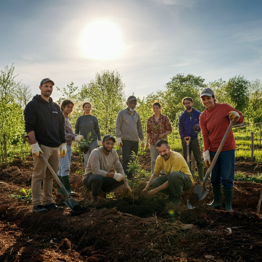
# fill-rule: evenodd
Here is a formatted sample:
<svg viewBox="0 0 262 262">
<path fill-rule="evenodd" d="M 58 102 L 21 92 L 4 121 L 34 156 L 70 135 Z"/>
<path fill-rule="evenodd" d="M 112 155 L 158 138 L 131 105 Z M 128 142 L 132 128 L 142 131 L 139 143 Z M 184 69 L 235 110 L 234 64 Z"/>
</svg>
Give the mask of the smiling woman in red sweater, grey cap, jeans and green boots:
<svg viewBox="0 0 262 262">
<path fill-rule="evenodd" d="M 199 124 L 204 142 L 204 162 L 209 168 L 230 124 L 229 118 L 237 118 L 237 123 L 242 123 L 244 117 L 232 106 L 226 103 L 216 103 L 214 92 L 210 88 L 203 89 L 200 98 L 206 107 L 199 117 Z M 235 149 L 236 142 L 231 129 L 210 177 L 214 200 L 211 204 L 205 204 L 206 206 L 221 208 L 224 189 L 226 211 L 233 211 L 231 205 L 234 192 Z"/>
</svg>

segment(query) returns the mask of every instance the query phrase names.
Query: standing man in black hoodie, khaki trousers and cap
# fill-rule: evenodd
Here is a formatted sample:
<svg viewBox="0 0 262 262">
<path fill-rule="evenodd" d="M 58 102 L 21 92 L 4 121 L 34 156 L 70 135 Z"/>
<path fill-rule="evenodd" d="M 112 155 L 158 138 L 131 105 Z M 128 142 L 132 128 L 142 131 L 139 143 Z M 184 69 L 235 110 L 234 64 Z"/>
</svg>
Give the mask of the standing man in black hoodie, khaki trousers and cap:
<svg viewBox="0 0 262 262">
<path fill-rule="evenodd" d="M 41 95 L 35 95 L 24 110 L 25 130 L 32 143 L 31 151 L 34 159 L 31 192 L 33 212 L 36 213 L 46 212 L 47 208 L 63 209 L 53 203 L 53 175 L 40 157 L 40 154 L 43 154 L 56 173 L 60 156 L 64 157 L 66 152 L 65 118 L 60 107 L 50 97 L 53 85 L 54 82 L 49 78 L 43 79 L 39 86 Z"/>
</svg>

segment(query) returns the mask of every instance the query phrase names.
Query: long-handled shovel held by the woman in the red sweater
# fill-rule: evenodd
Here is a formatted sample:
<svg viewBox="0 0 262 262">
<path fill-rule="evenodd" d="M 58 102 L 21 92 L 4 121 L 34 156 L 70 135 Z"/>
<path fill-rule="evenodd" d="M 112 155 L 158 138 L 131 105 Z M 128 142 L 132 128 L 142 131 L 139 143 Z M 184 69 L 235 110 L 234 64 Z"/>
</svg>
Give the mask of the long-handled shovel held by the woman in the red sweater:
<svg viewBox="0 0 262 262">
<path fill-rule="evenodd" d="M 218 158 L 218 156 L 221 152 L 221 149 L 222 149 L 222 147 L 223 147 L 223 145 L 224 145 L 224 143 L 225 143 L 225 141 L 228 137 L 228 134 L 229 134 L 229 132 L 232 128 L 232 125 L 234 124 L 234 122 L 237 121 L 236 118 L 234 120 L 231 120 L 231 119 L 229 119 L 229 120 L 230 120 L 230 124 L 229 124 L 227 131 L 226 131 L 226 133 L 225 133 L 225 135 L 224 135 L 224 137 L 223 137 L 223 139 L 220 143 L 220 146 L 219 146 L 219 148 L 218 148 L 218 150 L 215 154 L 215 157 L 214 157 L 210 167 L 208 168 L 208 171 L 206 172 L 206 176 L 204 178 L 203 186 L 201 187 L 200 185 L 196 185 L 193 193 L 189 196 L 189 198 L 187 200 L 187 206 L 188 206 L 189 209 L 193 209 L 193 208 L 196 208 L 197 206 L 199 206 L 209 192 L 206 189 L 206 181 L 208 181 L 208 178 L 209 178 L 209 176 L 212 172 L 212 169 L 213 169 L 213 167 L 216 163 L 216 160 L 217 160 L 217 158 Z"/>
</svg>

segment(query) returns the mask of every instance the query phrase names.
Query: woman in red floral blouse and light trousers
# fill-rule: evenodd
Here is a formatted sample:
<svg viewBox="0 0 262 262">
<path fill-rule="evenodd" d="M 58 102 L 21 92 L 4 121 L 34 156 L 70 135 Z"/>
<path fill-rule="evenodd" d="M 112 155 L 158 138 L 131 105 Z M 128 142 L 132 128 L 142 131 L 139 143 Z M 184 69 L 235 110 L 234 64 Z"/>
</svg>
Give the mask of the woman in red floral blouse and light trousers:
<svg viewBox="0 0 262 262">
<path fill-rule="evenodd" d="M 148 118 L 146 125 L 146 148 L 149 149 L 150 142 L 151 153 L 151 172 L 154 173 L 156 158 L 159 155 L 156 149 L 156 142 L 160 139 L 166 139 L 172 132 L 172 126 L 167 116 L 161 114 L 161 104 L 155 100 L 152 105 L 154 114 Z"/>
</svg>

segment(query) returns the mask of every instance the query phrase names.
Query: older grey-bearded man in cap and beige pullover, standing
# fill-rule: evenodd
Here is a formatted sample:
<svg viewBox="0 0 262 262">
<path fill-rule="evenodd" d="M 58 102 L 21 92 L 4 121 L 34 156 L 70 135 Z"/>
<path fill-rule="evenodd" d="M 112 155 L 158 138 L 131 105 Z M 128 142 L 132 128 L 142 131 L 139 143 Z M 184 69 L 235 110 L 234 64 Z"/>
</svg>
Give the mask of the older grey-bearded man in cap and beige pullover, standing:
<svg viewBox="0 0 262 262">
<path fill-rule="evenodd" d="M 127 108 L 118 112 L 115 131 L 117 145 L 122 146 L 122 167 L 127 178 L 130 180 L 133 178 L 133 174 L 127 172 L 127 165 L 130 161 L 132 151 L 137 155 L 139 138 L 142 148 L 145 146 L 145 139 L 140 116 L 135 112 L 137 98 L 135 96 L 129 96 L 126 103 Z"/>
</svg>

